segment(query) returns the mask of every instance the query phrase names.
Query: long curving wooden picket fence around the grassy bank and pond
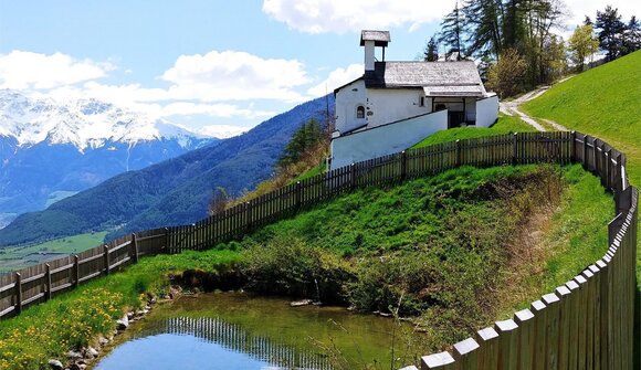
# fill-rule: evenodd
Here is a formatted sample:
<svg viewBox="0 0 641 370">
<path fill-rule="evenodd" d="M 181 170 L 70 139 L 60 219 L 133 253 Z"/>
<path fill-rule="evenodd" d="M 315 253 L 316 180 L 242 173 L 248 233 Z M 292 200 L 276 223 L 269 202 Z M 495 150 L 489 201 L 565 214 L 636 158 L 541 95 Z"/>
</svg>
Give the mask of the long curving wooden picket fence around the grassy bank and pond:
<svg viewBox="0 0 641 370">
<path fill-rule="evenodd" d="M 623 154 L 575 131 L 498 135 L 410 149 L 288 184 L 191 225 L 139 232 L 78 255 L 23 268 L 0 277 L 0 318 L 136 263 L 140 256 L 204 250 L 359 187 L 465 165 L 538 162 L 580 162 L 613 191 L 617 218 L 609 226 L 608 253 L 565 286 L 533 303 L 530 309 L 516 313 L 514 319 L 496 323 L 494 328 L 480 330 L 475 339 L 456 343 L 453 356 L 423 357 L 422 368 L 494 369 L 501 363 L 512 369 L 514 361 L 529 361 L 535 369 L 547 369 L 569 361 L 579 368 L 627 369 L 632 359 L 638 192 L 628 184 Z M 586 367 L 580 366 L 584 363 Z"/>
</svg>

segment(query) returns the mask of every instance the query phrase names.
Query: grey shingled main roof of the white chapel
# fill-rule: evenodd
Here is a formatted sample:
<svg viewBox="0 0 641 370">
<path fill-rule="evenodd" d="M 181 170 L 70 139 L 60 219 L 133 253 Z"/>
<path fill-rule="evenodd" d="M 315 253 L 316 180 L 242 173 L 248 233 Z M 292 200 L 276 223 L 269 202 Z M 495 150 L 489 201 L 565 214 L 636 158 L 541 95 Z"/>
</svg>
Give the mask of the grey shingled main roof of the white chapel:
<svg viewBox="0 0 641 370">
<path fill-rule="evenodd" d="M 473 61 L 376 62 L 366 71 L 368 88 L 422 87 L 430 96 L 483 96 L 485 88 Z"/>
</svg>

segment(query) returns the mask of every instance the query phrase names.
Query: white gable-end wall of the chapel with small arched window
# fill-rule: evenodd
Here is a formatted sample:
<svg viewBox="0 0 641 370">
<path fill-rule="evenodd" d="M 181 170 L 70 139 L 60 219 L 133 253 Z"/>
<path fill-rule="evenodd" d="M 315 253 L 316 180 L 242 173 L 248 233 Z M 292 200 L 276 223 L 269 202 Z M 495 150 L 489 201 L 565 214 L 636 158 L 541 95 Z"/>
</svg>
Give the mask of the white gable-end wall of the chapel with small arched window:
<svg viewBox="0 0 641 370">
<path fill-rule="evenodd" d="M 367 123 L 365 119 L 356 119 L 356 107 L 366 106 L 367 93 L 365 82 L 358 80 L 344 86 L 336 93 L 336 130 L 346 133 Z"/>
</svg>

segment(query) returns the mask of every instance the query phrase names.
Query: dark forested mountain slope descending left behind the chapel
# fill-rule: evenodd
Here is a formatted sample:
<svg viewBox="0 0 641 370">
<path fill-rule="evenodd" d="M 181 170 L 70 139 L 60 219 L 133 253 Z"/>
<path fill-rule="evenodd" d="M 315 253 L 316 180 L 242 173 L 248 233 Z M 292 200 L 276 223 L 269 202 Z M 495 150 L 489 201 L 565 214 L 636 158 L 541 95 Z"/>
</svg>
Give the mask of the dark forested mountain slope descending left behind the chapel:
<svg viewBox="0 0 641 370">
<path fill-rule="evenodd" d="M 44 211 L 21 214 L 0 230 L 0 246 L 105 230 L 111 239 L 196 222 L 207 215 L 214 189 L 222 187 L 232 195 L 253 189 L 273 173 L 283 148 L 304 121 L 326 121 L 333 110 L 333 95 L 320 97 L 243 135 L 115 176 Z"/>
</svg>

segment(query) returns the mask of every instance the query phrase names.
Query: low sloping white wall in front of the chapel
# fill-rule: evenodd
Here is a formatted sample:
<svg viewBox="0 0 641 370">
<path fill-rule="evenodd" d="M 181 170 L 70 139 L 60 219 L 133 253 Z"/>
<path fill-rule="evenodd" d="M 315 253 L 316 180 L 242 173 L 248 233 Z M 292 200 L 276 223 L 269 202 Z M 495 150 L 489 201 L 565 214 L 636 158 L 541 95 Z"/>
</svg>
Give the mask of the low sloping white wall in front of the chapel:
<svg viewBox="0 0 641 370">
<path fill-rule="evenodd" d="M 335 138 L 330 169 L 402 151 L 443 129 L 448 129 L 446 110 Z"/>
</svg>

